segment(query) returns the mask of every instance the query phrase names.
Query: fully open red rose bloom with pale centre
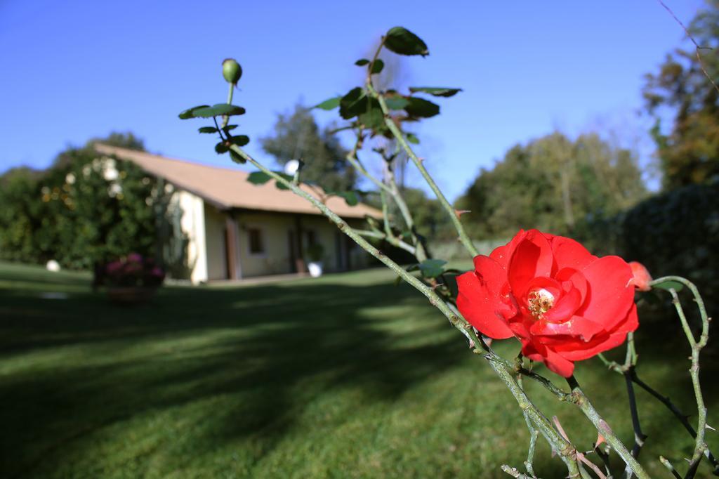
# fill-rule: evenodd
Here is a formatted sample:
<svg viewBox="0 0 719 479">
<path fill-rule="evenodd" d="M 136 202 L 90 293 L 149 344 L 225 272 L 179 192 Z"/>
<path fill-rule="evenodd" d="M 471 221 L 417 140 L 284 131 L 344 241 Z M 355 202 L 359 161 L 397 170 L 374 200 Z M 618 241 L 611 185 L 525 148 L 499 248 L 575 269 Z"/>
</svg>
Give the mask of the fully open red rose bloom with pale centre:
<svg viewBox="0 0 719 479">
<path fill-rule="evenodd" d="M 536 229 L 475 257 L 457 284 L 457 306 L 472 326 L 495 339 L 516 336 L 523 355 L 565 378 L 574 361 L 617 347 L 638 327 L 624 260 Z"/>
</svg>

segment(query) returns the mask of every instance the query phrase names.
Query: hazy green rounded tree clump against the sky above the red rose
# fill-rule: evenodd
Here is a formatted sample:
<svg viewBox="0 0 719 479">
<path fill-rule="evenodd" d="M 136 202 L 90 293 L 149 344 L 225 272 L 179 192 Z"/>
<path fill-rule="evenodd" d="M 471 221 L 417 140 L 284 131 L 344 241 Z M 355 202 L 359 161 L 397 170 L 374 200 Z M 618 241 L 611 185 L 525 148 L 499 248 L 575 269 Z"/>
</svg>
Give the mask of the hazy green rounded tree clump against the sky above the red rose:
<svg viewBox="0 0 719 479">
<path fill-rule="evenodd" d="M 597 134 L 569 140 L 554 133 L 516 145 L 482 169 L 457 201 L 470 210 L 478 237 L 511 236 L 536 227 L 571 233 L 589 215 L 610 216 L 646 195 L 636 154 Z"/>
</svg>

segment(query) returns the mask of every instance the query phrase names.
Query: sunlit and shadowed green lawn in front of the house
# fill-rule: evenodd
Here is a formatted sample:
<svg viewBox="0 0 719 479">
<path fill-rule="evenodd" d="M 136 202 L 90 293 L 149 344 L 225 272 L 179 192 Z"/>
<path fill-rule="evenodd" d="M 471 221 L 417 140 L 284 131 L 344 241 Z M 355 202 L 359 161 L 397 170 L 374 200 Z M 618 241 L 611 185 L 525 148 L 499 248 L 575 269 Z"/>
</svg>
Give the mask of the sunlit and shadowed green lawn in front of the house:
<svg viewBox="0 0 719 479">
<path fill-rule="evenodd" d="M 510 393 L 389 272 L 168 287 L 137 307 L 109 304 L 88 280 L 0 263 L 1 478 L 505 478 L 500 465 L 526 457 Z M 673 316 L 646 320 L 639 372 L 693 411 L 680 334 Z M 716 426 L 715 345 L 702 378 Z M 497 349 L 510 357 L 518 343 Z M 623 378 L 590 360 L 577 379 L 630 442 Z M 596 433 L 574 406 L 528 390 L 590 449 Z M 692 440 L 638 400 L 644 464 L 666 477 L 663 454 L 683 470 Z M 565 473 L 541 439 L 537 465 L 545 479 Z"/>
</svg>

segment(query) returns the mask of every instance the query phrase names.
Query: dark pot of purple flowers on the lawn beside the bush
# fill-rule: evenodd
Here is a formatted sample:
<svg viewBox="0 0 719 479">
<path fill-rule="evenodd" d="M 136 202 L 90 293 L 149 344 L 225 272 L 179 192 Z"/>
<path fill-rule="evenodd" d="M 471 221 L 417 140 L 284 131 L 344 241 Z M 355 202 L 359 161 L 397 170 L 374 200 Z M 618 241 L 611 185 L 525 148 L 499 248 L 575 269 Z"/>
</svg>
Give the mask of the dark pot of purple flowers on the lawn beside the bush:
<svg viewBox="0 0 719 479">
<path fill-rule="evenodd" d="M 116 303 L 139 303 L 155 295 L 165 280 L 165 271 L 151 258 L 130 253 L 127 257 L 108 263 L 105 267 L 107 292 Z"/>
</svg>

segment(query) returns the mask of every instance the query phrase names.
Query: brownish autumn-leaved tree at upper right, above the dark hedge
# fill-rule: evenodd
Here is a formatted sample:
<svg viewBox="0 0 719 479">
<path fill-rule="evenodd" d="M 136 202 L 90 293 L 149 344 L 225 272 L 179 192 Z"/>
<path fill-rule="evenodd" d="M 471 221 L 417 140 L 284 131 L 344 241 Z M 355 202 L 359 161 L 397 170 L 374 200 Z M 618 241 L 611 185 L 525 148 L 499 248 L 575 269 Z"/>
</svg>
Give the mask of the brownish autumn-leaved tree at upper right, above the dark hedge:
<svg viewBox="0 0 719 479">
<path fill-rule="evenodd" d="M 678 48 L 657 73 L 646 76 L 643 91 L 646 111 L 655 119 L 651 133 L 667 189 L 719 175 L 719 90 L 707 78 L 719 81 L 719 0 L 711 0 L 688 29 L 702 47 L 701 62 L 697 50 Z M 672 125 L 663 132 L 667 111 Z"/>
</svg>

